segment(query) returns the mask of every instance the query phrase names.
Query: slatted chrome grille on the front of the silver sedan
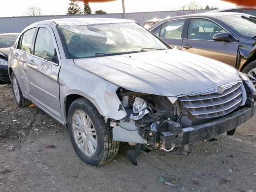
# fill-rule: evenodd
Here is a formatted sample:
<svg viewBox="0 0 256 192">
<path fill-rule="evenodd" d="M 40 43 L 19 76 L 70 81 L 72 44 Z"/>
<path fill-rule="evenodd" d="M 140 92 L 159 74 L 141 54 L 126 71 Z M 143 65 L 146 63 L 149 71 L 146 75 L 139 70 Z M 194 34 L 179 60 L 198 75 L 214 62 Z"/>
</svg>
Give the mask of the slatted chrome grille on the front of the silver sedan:
<svg viewBox="0 0 256 192">
<path fill-rule="evenodd" d="M 182 96 L 179 100 L 184 107 L 196 118 L 214 118 L 226 115 L 240 106 L 242 102 L 242 83 L 223 86 L 223 92 L 216 90 Z"/>
</svg>

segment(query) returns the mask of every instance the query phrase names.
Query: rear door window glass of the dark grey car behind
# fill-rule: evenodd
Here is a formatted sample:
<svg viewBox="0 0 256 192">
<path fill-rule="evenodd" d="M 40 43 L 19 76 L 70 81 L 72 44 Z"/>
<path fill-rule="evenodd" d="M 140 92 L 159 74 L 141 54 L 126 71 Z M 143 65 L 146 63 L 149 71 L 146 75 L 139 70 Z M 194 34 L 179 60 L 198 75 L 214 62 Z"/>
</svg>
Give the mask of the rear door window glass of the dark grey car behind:
<svg viewBox="0 0 256 192">
<path fill-rule="evenodd" d="M 162 25 L 160 38 L 180 39 L 186 19 L 168 21 Z"/>
</svg>

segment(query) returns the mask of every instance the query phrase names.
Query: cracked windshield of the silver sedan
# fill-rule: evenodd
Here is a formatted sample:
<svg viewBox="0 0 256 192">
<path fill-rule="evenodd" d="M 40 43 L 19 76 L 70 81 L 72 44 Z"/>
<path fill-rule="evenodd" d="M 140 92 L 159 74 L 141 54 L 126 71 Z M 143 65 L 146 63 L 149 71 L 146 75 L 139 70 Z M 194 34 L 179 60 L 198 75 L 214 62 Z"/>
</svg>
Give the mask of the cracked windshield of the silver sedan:
<svg viewBox="0 0 256 192">
<path fill-rule="evenodd" d="M 58 27 L 68 58 L 141 52 L 143 48 L 167 49 L 158 38 L 135 23 Z"/>
</svg>

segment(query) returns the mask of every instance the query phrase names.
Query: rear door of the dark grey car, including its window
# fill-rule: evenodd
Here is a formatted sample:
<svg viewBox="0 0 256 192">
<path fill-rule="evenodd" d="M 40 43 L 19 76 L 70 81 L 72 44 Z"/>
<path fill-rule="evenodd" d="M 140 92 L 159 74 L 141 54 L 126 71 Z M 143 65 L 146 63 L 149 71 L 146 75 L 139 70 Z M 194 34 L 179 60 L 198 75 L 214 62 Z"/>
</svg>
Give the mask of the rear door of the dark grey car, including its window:
<svg viewBox="0 0 256 192">
<path fill-rule="evenodd" d="M 182 39 L 184 36 L 184 26 L 186 24 L 186 18 L 169 20 L 159 26 L 154 31 L 154 34 L 160 37 L 170 47 L 181 49 Z"/>
</svg>

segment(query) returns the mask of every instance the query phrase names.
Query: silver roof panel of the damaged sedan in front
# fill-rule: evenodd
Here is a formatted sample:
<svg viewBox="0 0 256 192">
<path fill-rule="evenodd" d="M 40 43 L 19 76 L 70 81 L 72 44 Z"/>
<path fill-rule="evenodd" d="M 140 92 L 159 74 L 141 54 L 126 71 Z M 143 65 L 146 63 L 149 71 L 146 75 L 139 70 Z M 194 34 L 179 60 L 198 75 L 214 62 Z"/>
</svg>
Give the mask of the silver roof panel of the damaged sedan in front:
<svg viewBox="0 0 256 192">
<path fill-rule="evenodd" d="M 115 18 L 64 18 L 47 20 L 57 25 L 92 25 L 92 24 L 110 24 L 110 23 L 135 23 L 133 20 L 115 19 Z"/>
</svg>

